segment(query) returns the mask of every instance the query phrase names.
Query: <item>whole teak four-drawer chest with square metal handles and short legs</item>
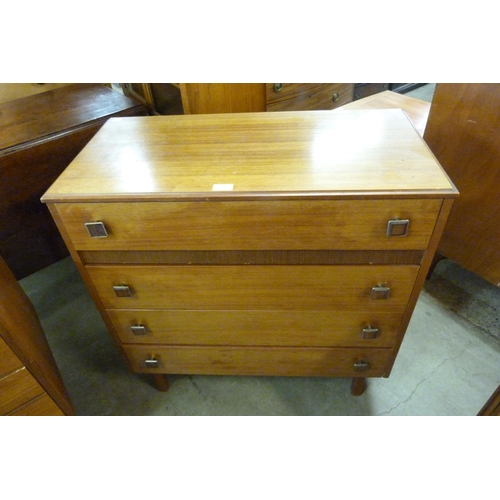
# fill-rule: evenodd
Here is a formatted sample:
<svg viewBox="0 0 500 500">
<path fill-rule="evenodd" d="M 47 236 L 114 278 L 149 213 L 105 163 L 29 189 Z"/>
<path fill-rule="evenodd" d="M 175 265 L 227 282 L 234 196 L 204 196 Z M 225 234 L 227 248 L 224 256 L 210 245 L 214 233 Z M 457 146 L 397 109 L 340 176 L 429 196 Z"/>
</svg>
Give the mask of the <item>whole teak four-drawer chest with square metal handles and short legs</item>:
<svg viewBox="0 0 500 500">
<path fill-rule="evenodd" d="M 453 198 L 401 110 L 114 118 L 44 195 L 130 368 L 388 376 Z"/>
</svg>

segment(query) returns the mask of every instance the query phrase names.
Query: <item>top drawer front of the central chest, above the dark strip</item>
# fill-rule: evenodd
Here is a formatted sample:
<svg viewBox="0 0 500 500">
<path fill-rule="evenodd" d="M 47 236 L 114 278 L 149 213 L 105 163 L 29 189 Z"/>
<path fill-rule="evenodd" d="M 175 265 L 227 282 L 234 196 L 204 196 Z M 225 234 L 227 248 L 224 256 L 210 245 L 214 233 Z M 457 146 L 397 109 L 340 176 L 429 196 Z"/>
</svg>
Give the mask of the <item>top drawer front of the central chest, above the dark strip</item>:
<svg viewBox="0 0 500 500">
<path fill-rule="evenodd" d="M 76 250 L 423 250 L 441 200 L 57 204 Z M 408 219 L 406 236 L 388 221 Z M 86 223 L 102 222 L 92 238 Z M 97 231 L 103 236 L 103 231 Z"/>
</svg>

